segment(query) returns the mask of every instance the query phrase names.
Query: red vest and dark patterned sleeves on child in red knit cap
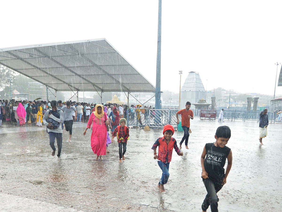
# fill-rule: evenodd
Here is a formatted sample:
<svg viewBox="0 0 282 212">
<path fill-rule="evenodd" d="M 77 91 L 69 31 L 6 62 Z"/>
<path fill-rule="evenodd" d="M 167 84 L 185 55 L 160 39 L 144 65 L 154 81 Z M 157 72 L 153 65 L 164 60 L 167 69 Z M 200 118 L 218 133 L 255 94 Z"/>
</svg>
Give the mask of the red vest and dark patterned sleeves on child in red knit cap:
<svg viewBox="0 0 282 212">
<path fill-rule="evenodd" d="M 158 138 L 153 145 L 152 149 L 156 148 L 158 146 L 158 160 L 169 163 L 171 161 L 172 151 L 173 148 L 177 152 L 177 154 L 180 153 L 179 148 L 177 147 L 176 140 L 171 137 L 169 143 L 166 143 L 166 139 L 163 137 Z"/>
</svg>

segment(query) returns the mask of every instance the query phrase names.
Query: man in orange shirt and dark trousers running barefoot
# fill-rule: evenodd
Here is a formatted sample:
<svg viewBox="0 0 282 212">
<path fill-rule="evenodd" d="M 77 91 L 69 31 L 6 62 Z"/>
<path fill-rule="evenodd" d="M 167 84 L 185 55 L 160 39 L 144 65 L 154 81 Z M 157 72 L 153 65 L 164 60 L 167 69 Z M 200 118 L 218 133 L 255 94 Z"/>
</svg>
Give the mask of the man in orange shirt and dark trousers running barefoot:
<svg viewBox="0 0 282 212">
<path fill-rule="evenodd" d="M 179 144 L 180 149 L 182 148 L 181 145 L 184 140 L 185 140 L 186 149 L 189 149 L 188 148 L 188 139 L 189 139 L 190 118 L 191 119 L 194 118 L 193 111 L 190 110 L 191 102 L 190 101 L 186 102 L 185 107 L 186 107 L 185 109 L 182 109 L 176 113 L 177 124 L 179 124 L 178 114 L 181 114 L 181 126 L 184 131 L 184 136 Z"/>
</svg>

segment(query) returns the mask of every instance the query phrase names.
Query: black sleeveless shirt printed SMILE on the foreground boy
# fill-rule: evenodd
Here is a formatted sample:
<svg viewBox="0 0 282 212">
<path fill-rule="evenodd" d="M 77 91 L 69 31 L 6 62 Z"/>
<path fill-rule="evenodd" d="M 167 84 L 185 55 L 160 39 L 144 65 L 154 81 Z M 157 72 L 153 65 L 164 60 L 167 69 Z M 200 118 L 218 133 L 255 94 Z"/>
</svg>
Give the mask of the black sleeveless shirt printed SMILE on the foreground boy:
<svg viewBox="0 0 282 212">
<path fill-rule="evenodd" d="M 213 143 L 206 144 L 205 148 L 207 154 L 204 160 L 204 167 L 206 172 L 208 172 L 208 177 L 212 181 L 221 183 L 225 177 L 223 167 L 231 149 L 227 146 L 223 148 L 217 147 Z"/>
</svg>

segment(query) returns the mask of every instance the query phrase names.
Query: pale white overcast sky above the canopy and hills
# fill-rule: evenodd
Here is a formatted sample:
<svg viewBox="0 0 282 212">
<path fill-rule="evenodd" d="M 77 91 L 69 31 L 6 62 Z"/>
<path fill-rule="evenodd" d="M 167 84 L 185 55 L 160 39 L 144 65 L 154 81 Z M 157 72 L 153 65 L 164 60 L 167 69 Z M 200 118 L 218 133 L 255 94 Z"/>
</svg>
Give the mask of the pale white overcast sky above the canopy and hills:
<svg viewBox="0 0 282 212">
<path fill-rule="evenodd" d="M 182 85 L 195 71 L 208 90 L 273 95 L 274 63 L 282 62 L 281 6 L 282 1 L 162 1 L 161 90 L 178 92 L 182 70 Z M 0 48 L 106 38 L 156 84 L 157 0 L 4 1 L 1 17 Z"/>
</svg>

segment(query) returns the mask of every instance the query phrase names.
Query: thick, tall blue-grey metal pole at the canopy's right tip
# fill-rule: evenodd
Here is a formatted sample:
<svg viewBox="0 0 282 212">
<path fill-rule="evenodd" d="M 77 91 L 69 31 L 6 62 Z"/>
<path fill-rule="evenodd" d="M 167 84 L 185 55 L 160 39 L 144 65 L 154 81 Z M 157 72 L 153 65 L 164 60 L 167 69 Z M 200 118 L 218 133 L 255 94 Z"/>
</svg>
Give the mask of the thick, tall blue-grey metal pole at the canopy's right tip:
<svg viewBox="0 0 282 212">
<path fill-rule="evenodd" d="M 158 43 L 157 43 L 157 75 L 156 75 L 156 98 L 155 108 L 161 109 L 160 106 L 160 62 L 161 62 L 161 35 L 162 35 L 162 0 L 158 1 Z"/>
</svg>

